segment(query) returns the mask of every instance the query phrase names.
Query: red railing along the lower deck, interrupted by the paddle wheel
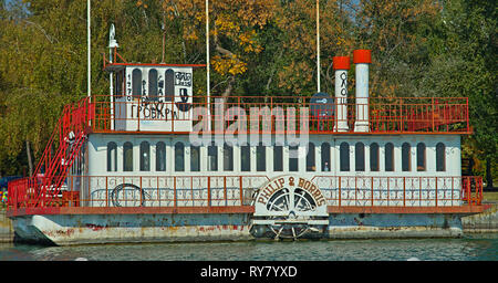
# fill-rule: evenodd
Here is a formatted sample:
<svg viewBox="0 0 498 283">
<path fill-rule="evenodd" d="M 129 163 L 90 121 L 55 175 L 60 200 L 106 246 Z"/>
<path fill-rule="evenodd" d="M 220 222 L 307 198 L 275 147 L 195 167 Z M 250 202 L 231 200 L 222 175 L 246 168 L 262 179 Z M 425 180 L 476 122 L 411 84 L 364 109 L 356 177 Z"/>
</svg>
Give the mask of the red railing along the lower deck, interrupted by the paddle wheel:
<svg viewBox="0 0 498 283">
<path fill-rule="evenodd" d="M 41 177 L 43 178 L 43 177 Z M 267 176 L 69 176 L 62 190 L 44 190 L 40 178 L 9 182 L 9 209 L 50 207 L 214 207 L 250 206 Z M 333 207 L 480 206 L 481 177 L 315 176 Z M 43 182 L 43 181 L 41 181 Z"/>
</svg>

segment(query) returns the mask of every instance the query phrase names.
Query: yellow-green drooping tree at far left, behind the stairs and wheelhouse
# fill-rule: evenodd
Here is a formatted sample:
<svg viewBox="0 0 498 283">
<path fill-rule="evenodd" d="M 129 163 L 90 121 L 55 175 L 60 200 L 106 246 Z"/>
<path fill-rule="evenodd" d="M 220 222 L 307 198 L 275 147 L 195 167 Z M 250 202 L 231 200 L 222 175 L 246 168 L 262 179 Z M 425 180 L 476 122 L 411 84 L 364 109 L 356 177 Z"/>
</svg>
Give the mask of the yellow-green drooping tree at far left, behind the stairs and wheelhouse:
<svg viewBox="0 0 498 283">
<path fill-rule="evenodd" d="M 86 2 L 14 0 L 2 1 L 1 8 L 0 174 L 19 175 L 22 167 L 32 170 L 33 165 L 25 166 L 29 154 L 35 163 L 62 107 L 86 96 Z M 111 23 L 125 56 L 151 61 L 160 55 L 156 11 L 160 7 L 153 3 L 144 9 L 124 0 L 92 1 L 94 95 L 108 93 L 102 56 L 108 53 Z"/>
</svg>

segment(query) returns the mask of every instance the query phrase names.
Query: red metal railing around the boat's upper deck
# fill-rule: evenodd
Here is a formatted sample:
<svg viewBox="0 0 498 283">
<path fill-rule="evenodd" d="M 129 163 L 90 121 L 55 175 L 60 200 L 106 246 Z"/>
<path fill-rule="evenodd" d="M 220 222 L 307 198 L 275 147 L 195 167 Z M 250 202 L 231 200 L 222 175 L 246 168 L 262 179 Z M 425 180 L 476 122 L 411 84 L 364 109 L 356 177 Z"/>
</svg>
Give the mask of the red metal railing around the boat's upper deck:
<svg viewBox="0 0 498 283">
<path fill-rule="evenodd" d="M 147 132 L 141 128 L 141 122 L 153 120 L 170 122 L 173 128 L 163 132 L 175 132 L 174 122 L 193 122 L 195 125 L 203 118 L 206 123 L 208 118 L 207 116 L 193 118 L 191 113 L 184 112 L 174 114 L 169 109 L 176 109 L 175 102 L 142 99 L 137 96 L 129 96 L 129 98 L 132 99 L 121 98 L 111 104 L 110 96 L 94 96 L 95 116 L 92 119 L 92 129 L 100 133 L 120 132 L 123 129 L 112 128 L 112 123 L 117 125 L 135 122 L 137 123 L 135 127 L 124 130 Z M 222 123 L 222 129 L 227 129 L 228 125 L 234 123 L 234 120 L 227 120 L 227 115 L 243 114 L 246 119 L 239 119 L 243 125 L 239 126 L 238 130 L 249 132 L 251 127 L 255 129 L 253 125 L 257 125 L 256 129 L 260 133 L 269 134 L 287 133 L 292 129 L 308 130 L 309 134 L 365 134 L 365 130 L 355 128 L 355 122 L 366 124 L 367 134 L 467 134 L 471 132 L 468 122 L 468 98 L 369 98 L 367 104 L 361 105 L 357 105 L 354 98 L 349 98 L 349 102 L 343 104 L 338 104 L 334 99 L 334 103 L 328 105 L 310 103 L 310 99 L 311 97 L 303 96 L 234 96 L 226 101 L 211 97 L 208 104 L 205 96 L 199 96 L 193 98 L 190 107 L 210 109 L 205 113 L 210 113 L 211 130 L 217 130 L 215 125 L 219 122 Z M 339 109 L 345 114 L 340 114 Z M 251 119 L 251 111 L 259 112 L 261 115 L 257 117 L 259 120 Z M 268 127 L 262 123 L 263 119 L 270 122 Z M 280 125 L 284 126 L 279 127 Z M 160 132 L 160 129 L 155 130 Z"/>
</svg>

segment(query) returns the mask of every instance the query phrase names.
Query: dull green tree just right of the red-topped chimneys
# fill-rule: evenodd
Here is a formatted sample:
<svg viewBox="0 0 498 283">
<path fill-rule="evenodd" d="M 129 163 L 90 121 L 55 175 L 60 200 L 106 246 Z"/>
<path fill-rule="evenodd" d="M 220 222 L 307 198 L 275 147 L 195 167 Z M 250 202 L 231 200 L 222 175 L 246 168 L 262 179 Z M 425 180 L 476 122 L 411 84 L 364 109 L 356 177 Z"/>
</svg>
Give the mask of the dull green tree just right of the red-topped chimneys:
<svg viewBox="0 0 498 283">
<path fill-rule="evenodd" d="M 426 29 L 440 12 L 430 0 L 361 0 L 355 10 L 357 46 L 371 49 L 372 96 L 427 96 L 417 82 L 427 65 Z"/>
</svg>

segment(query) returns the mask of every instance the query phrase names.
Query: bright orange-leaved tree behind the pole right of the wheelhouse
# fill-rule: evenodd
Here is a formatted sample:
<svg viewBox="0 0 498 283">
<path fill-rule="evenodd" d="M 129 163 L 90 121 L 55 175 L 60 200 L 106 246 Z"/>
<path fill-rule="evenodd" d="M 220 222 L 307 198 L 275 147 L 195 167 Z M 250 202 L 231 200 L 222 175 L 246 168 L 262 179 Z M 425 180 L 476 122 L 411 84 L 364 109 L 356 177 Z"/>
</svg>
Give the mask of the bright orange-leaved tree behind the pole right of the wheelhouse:
<svg viewBox="0 0 498 283">
<path fill-rule="evenodd" d="M 178 22 L 183 41 L 187 45 L 200 46 L 205 41 L 205 1 L 166 0 L 163 4 L 170 21 Z M 248 70 L 251 56 L 263 46 L 259 35 L 273 18 L 274 1 L 219 0 L 209 3 L 210 66 L 215 71 L 215 93 L 228 97 Z M 206 54 L 206 53 L 204 53 Z"/>
</svg>

